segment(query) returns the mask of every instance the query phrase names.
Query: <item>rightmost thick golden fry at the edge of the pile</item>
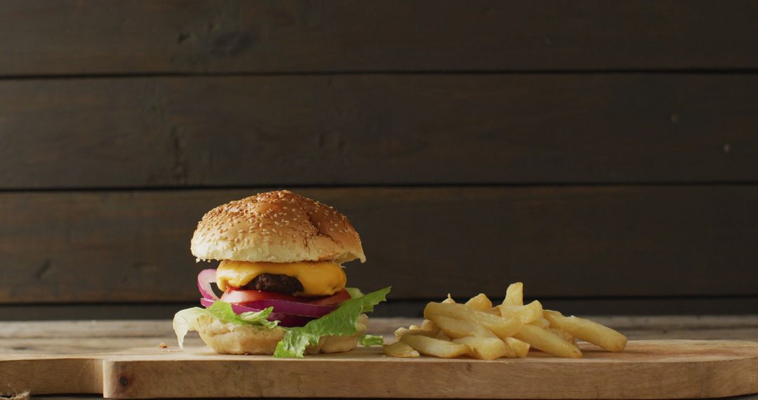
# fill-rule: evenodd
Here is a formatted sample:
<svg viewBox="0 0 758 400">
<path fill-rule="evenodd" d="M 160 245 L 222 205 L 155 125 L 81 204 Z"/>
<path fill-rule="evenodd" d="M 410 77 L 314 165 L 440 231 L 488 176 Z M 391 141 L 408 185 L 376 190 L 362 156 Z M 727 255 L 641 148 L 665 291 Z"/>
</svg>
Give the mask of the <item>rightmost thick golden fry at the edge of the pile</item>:
<svg viewBox="0 0 758 400">
<path fill-rule="evenodd" d="M 545 310 L 545 319 L 551 327 L 571 333 L 579 339 L 599 345 L 609 352 L 621 352 L 626 347 L 626 336 L 593 320 L 579 317 L 564 317 L 558 311 Z"/>
</svg>

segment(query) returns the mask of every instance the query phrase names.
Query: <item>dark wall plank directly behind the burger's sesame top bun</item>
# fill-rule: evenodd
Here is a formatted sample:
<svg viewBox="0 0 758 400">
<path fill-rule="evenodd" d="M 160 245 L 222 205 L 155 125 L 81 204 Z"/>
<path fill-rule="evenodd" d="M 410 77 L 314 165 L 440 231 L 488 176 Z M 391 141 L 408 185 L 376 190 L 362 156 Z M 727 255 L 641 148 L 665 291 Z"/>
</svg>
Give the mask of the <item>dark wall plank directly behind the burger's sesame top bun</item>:
<svg viewBox="0 0 758 400">
<path fill-rule="evenodd" d="M 2 193 L 0 302 L 194 302 L 189 238 L 252 190 Z M 521 280 L 550 297 L 756 295 L 758 186 L 302 189 L 361 233 L 349 285 L 392 298 Z M 697 312 L 697 311 L 696 311 Z"/>
</svg>

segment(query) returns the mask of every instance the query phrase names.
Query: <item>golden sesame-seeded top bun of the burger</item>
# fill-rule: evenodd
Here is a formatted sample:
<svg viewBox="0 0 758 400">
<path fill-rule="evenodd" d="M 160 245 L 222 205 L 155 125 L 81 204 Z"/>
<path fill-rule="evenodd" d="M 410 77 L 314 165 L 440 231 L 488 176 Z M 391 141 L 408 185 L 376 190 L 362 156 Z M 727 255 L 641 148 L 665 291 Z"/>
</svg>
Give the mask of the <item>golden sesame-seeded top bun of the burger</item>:
<svg viewBox="0 0 758 400">
<path fill-rule="evenodd" d="M 347 217 L 289 190 L 259 193 L 208 211 L 190 248 L 201 260 L 366 261 Z"/>
</svg>

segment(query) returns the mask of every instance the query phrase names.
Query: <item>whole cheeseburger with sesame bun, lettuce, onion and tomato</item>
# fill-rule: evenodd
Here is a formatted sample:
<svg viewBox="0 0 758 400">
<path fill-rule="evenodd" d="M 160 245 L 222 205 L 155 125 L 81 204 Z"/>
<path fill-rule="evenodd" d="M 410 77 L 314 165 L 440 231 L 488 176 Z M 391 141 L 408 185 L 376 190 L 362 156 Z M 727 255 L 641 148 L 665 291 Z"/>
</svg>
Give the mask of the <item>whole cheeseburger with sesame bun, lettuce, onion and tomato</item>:
<svg viewBox="0 0 758 400">
<path fill-rule="evenodd" d="M 220 262 L 198 275 L 203 307 L 174 316 L 180 347 L 195 330 L 224 354 L 347 352 L 365 339 L 365 313 L 390 291 L 346 287 L 343 264 L 366 261 L 358 233 L 334 208 L 287 190 L 208 211 L 190 249 L 198 261 Z"/>
</svg>

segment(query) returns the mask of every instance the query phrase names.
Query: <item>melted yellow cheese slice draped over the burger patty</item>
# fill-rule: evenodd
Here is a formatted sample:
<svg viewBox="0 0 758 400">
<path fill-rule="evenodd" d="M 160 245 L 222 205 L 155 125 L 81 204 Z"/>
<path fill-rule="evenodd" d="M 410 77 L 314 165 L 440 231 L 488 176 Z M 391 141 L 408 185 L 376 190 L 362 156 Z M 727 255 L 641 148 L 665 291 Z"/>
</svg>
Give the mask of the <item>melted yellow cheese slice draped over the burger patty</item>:
<svg viewBox="0 0 758 400">
<path fill-rule="evenodd" d="M 221 290 L 229 286 L 245 286 L 262 273 L 297 278 L 303 290 L 296 295 L 334 295 L 347 283 L 342 267 L 327 261 L 271 263 L 224 260 L 216 269 L 216 284 Z"/>
</svg>

